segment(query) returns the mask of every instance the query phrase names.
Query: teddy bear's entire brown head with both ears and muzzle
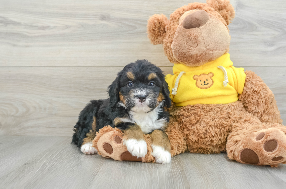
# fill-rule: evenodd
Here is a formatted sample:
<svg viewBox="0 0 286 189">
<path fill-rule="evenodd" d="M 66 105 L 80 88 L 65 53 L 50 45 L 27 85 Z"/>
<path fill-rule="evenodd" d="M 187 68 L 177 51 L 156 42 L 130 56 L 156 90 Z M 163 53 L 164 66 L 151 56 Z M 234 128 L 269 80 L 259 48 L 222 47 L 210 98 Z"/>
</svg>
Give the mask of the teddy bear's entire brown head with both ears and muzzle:
<svg viewBox="0 0 286 189">
<path fill-rule="evenodd" d="M 200 66 L 229 52 L 228 24 L 234 16 L 228 0 L 190 3 L 175 10 L 169 20 L 163 14 L 150 17 L 148 38 L 152 44 L 163 44 L 170 62 Z"/>
</svg>

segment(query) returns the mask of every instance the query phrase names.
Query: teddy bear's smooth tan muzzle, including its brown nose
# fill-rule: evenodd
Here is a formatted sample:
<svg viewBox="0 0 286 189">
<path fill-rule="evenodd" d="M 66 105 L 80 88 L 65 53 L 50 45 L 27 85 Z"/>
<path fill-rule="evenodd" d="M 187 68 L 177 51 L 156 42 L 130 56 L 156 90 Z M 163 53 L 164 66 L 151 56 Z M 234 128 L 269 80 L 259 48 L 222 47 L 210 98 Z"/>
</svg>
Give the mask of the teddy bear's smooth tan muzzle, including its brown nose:
<svg viewBox="0 0 286 189">
<path fill-rule="evenodd" d="M 230 35 L 218 18 L 205 10 L 187 15 L 172 41 L 172 55 L 186 66 L 200 66 L 228 52 Z"/>
</svg>

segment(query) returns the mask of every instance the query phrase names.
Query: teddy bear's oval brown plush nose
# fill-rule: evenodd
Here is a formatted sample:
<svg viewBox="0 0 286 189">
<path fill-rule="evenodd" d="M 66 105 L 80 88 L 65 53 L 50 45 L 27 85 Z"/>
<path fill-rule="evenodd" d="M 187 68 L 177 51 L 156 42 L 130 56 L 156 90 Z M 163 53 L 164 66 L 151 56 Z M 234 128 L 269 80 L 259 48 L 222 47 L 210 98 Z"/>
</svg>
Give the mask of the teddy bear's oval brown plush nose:
<svg viewBox="0 0 286 189">
<path fill-rule="evenodd" d="M 183 20 L 183 27 L 186 29 L 198 28 L 207 23 L 210 15 L 205 10 L 198 10 L 188 16 Z"/>
</svg>

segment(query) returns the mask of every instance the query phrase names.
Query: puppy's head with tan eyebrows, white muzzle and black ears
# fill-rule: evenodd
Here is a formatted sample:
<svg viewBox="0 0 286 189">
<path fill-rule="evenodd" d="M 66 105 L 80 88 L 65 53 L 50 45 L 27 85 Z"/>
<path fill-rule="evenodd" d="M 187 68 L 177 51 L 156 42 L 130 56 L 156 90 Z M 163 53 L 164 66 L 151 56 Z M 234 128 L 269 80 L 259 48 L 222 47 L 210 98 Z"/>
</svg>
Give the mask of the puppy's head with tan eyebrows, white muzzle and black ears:
<svg viewBox="0 0 286 189">
<path fill-rule="evenodd" d="M 111 103 L 125 106 L 128 110 L 146 113 L 154 110 L 161 102 L 167 107 L 170 106 L 165 76 L 160 68 L 147 60 L 138 60 L 125 66 L 114 83 L 117 83 L 118 97 L 114 102 L 112 94 L 109 93 Z M 109 89 L 111 88 L 112 85 Z"/>
</svg>

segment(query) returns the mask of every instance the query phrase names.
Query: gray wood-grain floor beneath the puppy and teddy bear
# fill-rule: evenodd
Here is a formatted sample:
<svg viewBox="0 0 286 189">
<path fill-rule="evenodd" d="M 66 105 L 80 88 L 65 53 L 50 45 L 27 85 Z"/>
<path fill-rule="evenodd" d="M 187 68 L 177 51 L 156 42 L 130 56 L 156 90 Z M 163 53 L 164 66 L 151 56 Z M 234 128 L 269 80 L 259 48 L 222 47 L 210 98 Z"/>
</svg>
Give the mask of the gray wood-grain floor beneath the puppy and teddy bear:
<svg viewBox="0 0 286 189">
<path fill-rule="evenodd" d="M 1 188 L 286 187 L 286 165 L 244 165 L 229 160 L 226 153 L 187 152 L 167 165 L 121 162 L 83 154 L 70 142 L 70 137 L 1 137 Z"/>
</svg>

